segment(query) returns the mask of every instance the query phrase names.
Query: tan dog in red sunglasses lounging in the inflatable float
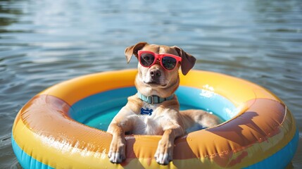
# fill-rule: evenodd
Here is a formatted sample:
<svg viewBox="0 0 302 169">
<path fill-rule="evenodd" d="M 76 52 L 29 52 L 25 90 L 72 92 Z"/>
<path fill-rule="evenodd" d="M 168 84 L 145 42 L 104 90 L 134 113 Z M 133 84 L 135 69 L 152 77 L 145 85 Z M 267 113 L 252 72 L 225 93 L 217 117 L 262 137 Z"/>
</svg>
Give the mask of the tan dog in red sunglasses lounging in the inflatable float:
<svg viewBox="0 0 302 169">
<path fill-rule="evenodd" d="M 161 165 L 172 161 L 175 138 L 186 133 L 195 124 L 213 127 L 220 119 L 201 110 L 180 111 L 175 96 L 179 87 L 179 68 L 187 75 L 196 58 L 178 46 L 164 46 L 139 42 L 125 49 L 127 63 L 132 55 L 139 60 L 135 77 L 137 94 L 128 97 L 108 126 L 113 135 L 108 152 L 111 163 L 125 160 L 125 133 L 162 135 L 154 158 Z"/>
</svg>

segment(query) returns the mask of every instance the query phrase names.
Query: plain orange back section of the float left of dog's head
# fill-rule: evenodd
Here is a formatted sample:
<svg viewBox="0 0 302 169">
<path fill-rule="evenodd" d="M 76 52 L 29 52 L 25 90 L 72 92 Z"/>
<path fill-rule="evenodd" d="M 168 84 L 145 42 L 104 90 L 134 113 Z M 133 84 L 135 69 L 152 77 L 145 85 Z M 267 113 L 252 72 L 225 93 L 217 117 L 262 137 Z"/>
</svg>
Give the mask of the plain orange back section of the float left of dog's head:
<svg viewBox="0 0 302 169">
<path fill-rule="evenodd" d="M 60 84 L 56 84 L 40 94 L 47 94 L 63 99 L 69 105 L 83 99 L 84 97 L 120 87 L 134 86 L 134 77 L 137 70 L 96 73 L 77 77 Z M 70 96 L 73 94 L 73 96 Z"/>
</svg>

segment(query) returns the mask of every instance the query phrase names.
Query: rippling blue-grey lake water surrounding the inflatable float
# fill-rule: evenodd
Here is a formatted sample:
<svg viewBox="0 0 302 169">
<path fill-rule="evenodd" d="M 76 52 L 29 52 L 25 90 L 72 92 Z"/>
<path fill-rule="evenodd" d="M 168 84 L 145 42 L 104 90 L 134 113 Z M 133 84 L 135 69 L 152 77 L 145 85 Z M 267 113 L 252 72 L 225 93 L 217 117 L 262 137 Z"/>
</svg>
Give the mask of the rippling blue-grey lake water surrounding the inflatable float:
<svg viewBox="0 0 302 169">
<path fill-rule="evenodd" d="M 293 1 L 0 1 L 0 168 L 20 168 L 11 149 L 18 110 L 38 92 L 79 75 L 135 68 L 126 46 L 177 45 L 195 69 L 270 89 L 298 122 L 302 168 L 302 5 Z M 223 82 L 222 82 L 223 83 Z"/>
</svg>

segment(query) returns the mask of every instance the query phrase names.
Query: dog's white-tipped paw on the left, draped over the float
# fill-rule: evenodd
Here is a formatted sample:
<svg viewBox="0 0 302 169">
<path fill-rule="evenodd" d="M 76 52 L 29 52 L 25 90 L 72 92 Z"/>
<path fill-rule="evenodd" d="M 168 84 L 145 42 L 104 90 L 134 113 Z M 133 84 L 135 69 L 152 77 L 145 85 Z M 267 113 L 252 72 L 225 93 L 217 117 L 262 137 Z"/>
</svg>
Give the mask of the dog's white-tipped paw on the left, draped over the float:
<svg viewBox="0 0 302 169">
<path fill-rule="evenodd" d="M 111 146 L 108 153 L 108 158 L 111 163 L 122 163 L 125 161 L 126 154 L 125 154 L 125 142 L 111 142 Z"/>
</svg>

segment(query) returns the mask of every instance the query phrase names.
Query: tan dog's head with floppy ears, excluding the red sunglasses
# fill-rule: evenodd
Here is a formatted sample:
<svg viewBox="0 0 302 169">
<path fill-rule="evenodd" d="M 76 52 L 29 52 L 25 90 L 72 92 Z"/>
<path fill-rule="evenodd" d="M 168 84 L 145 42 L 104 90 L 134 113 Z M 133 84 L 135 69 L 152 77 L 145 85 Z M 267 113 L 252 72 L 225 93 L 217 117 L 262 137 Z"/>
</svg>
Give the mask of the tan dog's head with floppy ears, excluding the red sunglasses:
<svg viewBox="0 0 302 169">
<path fill-rule="evenodd" d="M 151 66 L 138 64 L 139 73 L 135 80 L 135 85 L 139 92 L 146 96 L 157 95 L 168 97 L 173 94 L 180 82 L 178 69 L 181 67 L 182 74 L 187 75 L 196 61 L 194 56 L 183 51 L 180 47 L 139 42 L 125 49 L 127 63 L 130 62 L 132 55 L 139 59 L 139 51 L 150 51 L 151 54 L 172 54 L 182 58 L 182 61 L 178 62 L 172 70 L 163 68 L 163 62 L 159 60 L 156 60 Z"/>
</svg>

